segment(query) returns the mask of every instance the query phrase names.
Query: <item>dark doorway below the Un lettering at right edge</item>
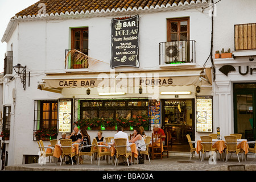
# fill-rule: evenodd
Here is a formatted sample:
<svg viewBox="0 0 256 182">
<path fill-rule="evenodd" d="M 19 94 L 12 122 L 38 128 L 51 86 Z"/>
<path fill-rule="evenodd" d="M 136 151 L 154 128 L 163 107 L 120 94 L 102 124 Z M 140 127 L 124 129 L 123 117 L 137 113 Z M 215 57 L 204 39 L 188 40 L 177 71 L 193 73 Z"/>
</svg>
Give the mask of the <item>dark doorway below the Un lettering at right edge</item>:
<svg viewBox="0 0 256 182">
<path fill-rule="evenodd" d="M 234 84 L 234 133 L 255 140 L 256 84 Z"/>
</svg>

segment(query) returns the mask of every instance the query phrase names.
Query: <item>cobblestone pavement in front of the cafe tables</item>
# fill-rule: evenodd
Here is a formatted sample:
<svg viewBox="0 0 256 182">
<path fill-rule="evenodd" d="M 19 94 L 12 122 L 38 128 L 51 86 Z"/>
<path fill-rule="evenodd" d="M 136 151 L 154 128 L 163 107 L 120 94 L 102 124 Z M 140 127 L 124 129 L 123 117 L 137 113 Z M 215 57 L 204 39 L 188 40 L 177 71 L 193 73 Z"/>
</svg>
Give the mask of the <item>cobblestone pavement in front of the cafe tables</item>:
<svg viewBox="0 0 256 182">
<path fill-rule="evenodd" d="M 240 156 L 241 160 L 241 156 Z M 211 161 L 213 162 L 213 161 Z M 249 156 L 247 160 L 238 162 L 237 156 L 233 155 L 228 162 L 217 160 L 216 164 L 210 164 L 209 159 L 199 160 L 194 157 L 189 160 L 188 157 L 169 156 L 169 158 L 154 159 L 151 163 L 145 160 L 144 164 L 135 164 L 132 166 L 114 166 L 106 163 L 105 160 L 100 161 L 100 166 L 90 163 L 90 160 L 85 158 L 83 164 L 61 164 L 60 162 L 46 163 L 43 166 L 39 164 L 24 164 L 16 166 L 6 166 L 6 171 L 256 171 L 256 158 Z"/>
</svg>

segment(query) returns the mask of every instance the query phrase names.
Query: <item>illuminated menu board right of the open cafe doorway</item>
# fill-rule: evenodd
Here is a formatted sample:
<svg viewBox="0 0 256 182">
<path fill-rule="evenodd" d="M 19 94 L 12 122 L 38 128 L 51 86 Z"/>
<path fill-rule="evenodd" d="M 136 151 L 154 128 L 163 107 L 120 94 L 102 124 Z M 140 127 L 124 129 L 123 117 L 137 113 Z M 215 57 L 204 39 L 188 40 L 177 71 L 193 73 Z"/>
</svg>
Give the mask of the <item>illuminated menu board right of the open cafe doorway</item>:
<svg viewBox="0 0 256 182">
<path fill-rule="evenodd" d="M 212 96 L 196 97 L 196 131 L 212 132 Z"/>
</svg>

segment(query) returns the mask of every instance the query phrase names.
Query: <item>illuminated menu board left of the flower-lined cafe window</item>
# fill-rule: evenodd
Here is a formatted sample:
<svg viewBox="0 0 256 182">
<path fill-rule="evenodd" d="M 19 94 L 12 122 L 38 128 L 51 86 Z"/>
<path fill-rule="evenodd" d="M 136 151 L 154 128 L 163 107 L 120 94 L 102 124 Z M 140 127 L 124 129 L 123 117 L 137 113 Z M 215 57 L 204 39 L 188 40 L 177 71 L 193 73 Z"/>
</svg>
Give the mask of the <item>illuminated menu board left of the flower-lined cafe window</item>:
<svg viewBox="0 0 256 182">
<path fill-rule="evenodd" d="M 59 133 L 71 133 L 72 99 L 59 100 Z"/>
</svg>

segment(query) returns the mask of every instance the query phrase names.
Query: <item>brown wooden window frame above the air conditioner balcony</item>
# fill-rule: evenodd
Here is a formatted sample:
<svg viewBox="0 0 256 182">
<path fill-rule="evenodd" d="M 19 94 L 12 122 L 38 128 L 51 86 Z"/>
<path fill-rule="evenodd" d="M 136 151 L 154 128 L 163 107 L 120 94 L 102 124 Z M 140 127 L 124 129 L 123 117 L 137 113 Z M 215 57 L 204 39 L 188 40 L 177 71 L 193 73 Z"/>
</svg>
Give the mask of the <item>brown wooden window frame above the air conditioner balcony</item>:
<svg viewBox="0 0 256 182">
<path fill-rule="evenodd" d="M 190 26 L 189 26 L 189 17 L 185 17 L 185 18 L 171 18 L 171 19 L 167 19 L 167 42 L 172 42 L 171 40 L 171 23 L 172 22 L 177 22 L 177 34 L 178 34 L 178 40 L 180 41 L 180 22 L 184 22 L 187 21 L 188 25 L 187 25 L 187 41 L 189 40 L 190 37 Z M 176 41 L 176 40 L 175 40 Z"/>
</svg>

